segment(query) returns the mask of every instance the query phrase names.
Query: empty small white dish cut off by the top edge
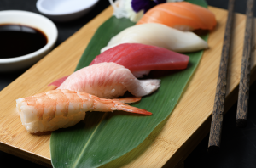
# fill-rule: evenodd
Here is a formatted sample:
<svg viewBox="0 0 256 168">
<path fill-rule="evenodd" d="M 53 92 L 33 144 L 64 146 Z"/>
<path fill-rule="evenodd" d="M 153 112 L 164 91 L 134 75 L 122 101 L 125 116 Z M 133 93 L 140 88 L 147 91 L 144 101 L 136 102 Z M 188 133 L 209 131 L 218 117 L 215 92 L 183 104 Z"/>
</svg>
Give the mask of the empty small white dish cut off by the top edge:
<svg viewBox="0 0 256 168">
<path fill-rule="evenodd" d="M 76 20 L 88 13 L 98 0 L 38 0 L 37 8 L 51 20 Z"/>
</svg>

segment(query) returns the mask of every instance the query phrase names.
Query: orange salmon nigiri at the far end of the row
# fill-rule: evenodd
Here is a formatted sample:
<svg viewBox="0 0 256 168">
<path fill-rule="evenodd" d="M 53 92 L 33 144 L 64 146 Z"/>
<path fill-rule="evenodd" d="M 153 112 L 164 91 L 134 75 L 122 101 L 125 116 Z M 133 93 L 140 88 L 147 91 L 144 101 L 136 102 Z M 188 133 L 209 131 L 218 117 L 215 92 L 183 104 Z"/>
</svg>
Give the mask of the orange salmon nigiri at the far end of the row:
<svg viewBox="0 0 256 168">
<path fill-rule="evenodd" d="M 207 8 L 188 2 L 177 2 L 161 3 L 149 9 L 137 25 L 145 23 L 159 23 L 181 31 L 212 30 L 216 19 Z"/>
</svg>

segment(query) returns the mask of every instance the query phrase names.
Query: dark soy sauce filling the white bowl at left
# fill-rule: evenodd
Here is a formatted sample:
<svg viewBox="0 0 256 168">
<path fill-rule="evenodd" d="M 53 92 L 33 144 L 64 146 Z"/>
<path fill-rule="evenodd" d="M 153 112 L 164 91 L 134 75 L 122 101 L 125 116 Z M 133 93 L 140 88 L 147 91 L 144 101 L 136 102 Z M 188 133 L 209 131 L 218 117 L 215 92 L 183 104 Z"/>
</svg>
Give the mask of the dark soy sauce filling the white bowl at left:
<svg viewBox="0 0 256 168">
<path fill-rule="evenodd" d="M 0 59 L 33 53 L 47 43 L 44 32 L 26 25 L 0 25 Z"/>
</svg>

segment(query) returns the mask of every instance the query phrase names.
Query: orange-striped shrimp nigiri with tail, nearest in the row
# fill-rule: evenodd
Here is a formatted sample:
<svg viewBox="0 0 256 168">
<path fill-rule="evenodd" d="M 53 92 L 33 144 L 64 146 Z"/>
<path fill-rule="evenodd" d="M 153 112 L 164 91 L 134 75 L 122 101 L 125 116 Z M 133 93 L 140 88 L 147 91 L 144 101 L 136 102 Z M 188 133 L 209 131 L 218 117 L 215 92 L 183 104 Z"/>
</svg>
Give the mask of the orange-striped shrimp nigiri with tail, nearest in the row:
<svg viewBox="0 0 256 168">
<path fill-rule="evenodd" d="M 54 131 L 74 126 L 84 120 L 86 111 L 112 112 L 123 110 L 130 113 L 152 115 L 145 109 L 127 105 L 141 98 L 104 99 L 85 92 L 56 89 L 16 100 L 16 109 L 22 125 L 31 133 Z"/>
</svg>

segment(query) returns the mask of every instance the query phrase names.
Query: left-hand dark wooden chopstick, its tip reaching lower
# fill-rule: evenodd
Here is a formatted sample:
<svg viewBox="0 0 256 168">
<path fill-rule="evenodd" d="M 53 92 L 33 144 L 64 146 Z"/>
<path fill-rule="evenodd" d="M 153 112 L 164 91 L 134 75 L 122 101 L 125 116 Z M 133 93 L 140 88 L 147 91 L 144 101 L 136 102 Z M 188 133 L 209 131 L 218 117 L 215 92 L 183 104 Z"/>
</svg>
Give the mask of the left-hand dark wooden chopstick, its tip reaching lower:
<svg viewBox="0 0 256 168">
<path fill-rule="evenodd" d="M 230 37 L 233 25 L 233 11 L 235 0 L 229 1 L 229 14 L 224 34 L 224 44 L 221 53 L 218 70 L 218 82 L 212 112 L 212 125 L 208 143 L 208 153 L 214 154 L 219 150 L 220 137 L 222 132 L 222 122 L 224 115 L 224 100 L 226 95 L 227 71 L 230 54 Z"/>
</svg>

